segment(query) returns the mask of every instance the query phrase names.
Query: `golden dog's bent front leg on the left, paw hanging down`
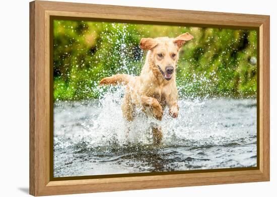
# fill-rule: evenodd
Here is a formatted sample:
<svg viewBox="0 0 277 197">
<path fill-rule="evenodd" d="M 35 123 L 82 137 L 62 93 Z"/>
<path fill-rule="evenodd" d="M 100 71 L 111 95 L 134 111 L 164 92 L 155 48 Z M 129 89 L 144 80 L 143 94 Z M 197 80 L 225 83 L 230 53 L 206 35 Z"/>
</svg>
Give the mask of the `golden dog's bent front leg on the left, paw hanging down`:
<svg viewBox="0 0 277 197">
<path fill-rule="evenodd" d="M 157 99 L 155 99 L 153 97 L 142 95 L 141 101 L 142 101 L 142 105 L 153 107 L 153 112 L 154 112 L 155 118 L 157 118 L 158 120 L 162 120 L 164 112 L 163 112 L 162 106 L 160 105 L 160 103 Z"/>
</svg>

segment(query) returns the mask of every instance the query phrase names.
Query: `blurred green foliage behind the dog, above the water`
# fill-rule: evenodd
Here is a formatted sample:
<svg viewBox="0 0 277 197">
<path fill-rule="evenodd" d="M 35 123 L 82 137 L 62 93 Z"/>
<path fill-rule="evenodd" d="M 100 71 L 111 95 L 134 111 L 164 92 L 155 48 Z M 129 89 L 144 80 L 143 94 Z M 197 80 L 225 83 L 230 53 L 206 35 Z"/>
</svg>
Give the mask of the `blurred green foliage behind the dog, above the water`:
<svg viewBox="0 0 277 197">
<path fill-rule="evenodd" d="M 54 99 L 98 98 L 103 77 L 140 75 L 143 37 L 176 37 L 189 32 L 177 69 L 181 96 L 256 96 L 257 34 L 252 30 L 54 21 Z M 251 64 L 252 63 L 252 64 Z"/>
</svg>

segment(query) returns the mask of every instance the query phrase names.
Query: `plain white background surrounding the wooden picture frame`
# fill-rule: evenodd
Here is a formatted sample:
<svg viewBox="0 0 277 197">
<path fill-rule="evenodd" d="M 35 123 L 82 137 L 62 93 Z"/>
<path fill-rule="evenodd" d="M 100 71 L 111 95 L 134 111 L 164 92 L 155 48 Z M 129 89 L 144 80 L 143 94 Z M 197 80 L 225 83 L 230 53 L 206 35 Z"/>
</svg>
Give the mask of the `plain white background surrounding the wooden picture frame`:
<svg viewBox="0 0 277 197">
<path fill-rule="evenodd" d="M 61 0 L 60 0 L 61 1 Z M 213 186 L 79 194 L 76 196 L 273 196 L 276 154 L 276 7 L 274 1 L 74 0 L 67 2 L 270 15 L 271 181 Z M 1 196 L 27 196 L 29 189 L 29 1 L 1 1 L 0 11 L 0 182 Z M 275 187 L 274 187 L 275 186 Z M 69 196 L 69 195 L 68 195 Z M 75 195 L 71 195 L 75 196 Z"/>
</svg>

